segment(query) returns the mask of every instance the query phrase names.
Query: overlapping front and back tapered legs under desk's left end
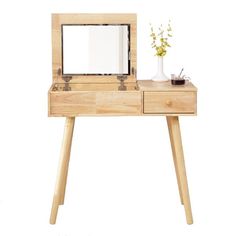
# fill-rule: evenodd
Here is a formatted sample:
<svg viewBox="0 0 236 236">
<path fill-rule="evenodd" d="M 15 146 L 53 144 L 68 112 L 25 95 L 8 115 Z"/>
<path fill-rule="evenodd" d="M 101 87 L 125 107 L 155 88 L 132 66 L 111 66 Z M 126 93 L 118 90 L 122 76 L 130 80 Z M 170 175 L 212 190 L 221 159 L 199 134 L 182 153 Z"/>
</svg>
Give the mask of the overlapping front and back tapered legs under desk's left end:
<svg viewBox="0 0 236 236">
<path fill-rule="evenodd" d="M 64 203 L 74 123 L 75 123 L 74 117 L 66 118 L 64 136 L 60 154 L 60 162 L 58 166 L 56 186 L 51 209 L 50 224 L 56 223 L 58 207 L 59 205 L 63 205 Z"/>
</svg>

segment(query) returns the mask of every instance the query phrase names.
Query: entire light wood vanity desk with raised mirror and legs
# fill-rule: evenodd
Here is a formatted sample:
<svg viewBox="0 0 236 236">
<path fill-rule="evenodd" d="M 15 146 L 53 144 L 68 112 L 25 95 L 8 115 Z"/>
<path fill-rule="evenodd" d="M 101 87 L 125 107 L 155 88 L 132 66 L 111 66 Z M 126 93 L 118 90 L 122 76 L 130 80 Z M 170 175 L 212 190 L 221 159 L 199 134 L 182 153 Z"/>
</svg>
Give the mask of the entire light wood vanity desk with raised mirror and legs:
<svg viewBox="0 0 236 236">
<path fill-rule="evenodd" d="M 82 26 L 88 27 L 89 35 L 96 32 L 98 34 L 97 41 L 102 37 L 101 32 L 105 32 L 104 34 L 107 37 L 113 37 L 112 39 L 114 39 L 108 42 L 117 43 L 119 52 L 114 52 L 114 54 L 119 55 L 119 60 L 115 58 L 115 66 L 109 66 L 109 68 L 114 67 L 111 73 L 108 70 L 109 73 L 105 71 L 105 73 L 101 74 L 100 68 L 103 68 L 104 65 L 101 64 L 99 65 L 100 67 L 94 67 L 94 62 L 92 66 L 87 66 L 90 68 L 88 71 L 90 72 L 91 70 L 92 73 L 87 73 L 86 66 L 84 68 L 78 66 L 79 70 L 85 71 L 85 73 L 78 73 L 76 71 L 77 67 L 71 67 L 66 61 L 66 58 L 68 58 L 67 60 L 70 59 L 68 55 L 72 55 L 73 58 L 77 56 L 77 54 L 73 55 L 74 51 L 70 52 L 70 47 L 66 45 L 67 42 L 70 42 L 70 38 L 67 39 L 67 37 L 74 33 L 76 38 L 80 29 L 83 29 L 81 32 L 85 32 L 85 28 Z M 117 42 L 116 38 L 114 38 L 116 35 L 119 37 Z M 127 45 L 126 39 L 128 41 Z M 89 43 L 91 44 L 90 41 Z M 71 42 L 69 45 L 71 45 Z M 181 86 L 173 86 L 170 81 L 137 80 L 136 14 L 53 14 L 52 43 L 53 83 L 48 92 L 49 116 L 66 117 L 66 123 L 50 223 L 55 224 L 59 205 L 64 204 L 75 117 L 161 115 L 166 116 L 167 120 L 180 201 L 184 205 L 187 223 L 192 224 L 193 218 L 184 164 L 179 116 L 196 115 L 196 87 L 190 82 L 186 82 L 185 85 Z M 96 44 L 95 42 L 93 43 Z M 66 51 L 66 48 L 68 48 L 68 51 Z M 76 48 L 77 45 L 75 45 L 75 51 Z M 101 48 L 101 45 L 99 45 L 99 48 Z M 128 52 L 126 52 L 127 50 Z M 83 49 L 80 49 L 80 52 L 82 51 Z M 102 56 L 105 57 L 109 53 L 104 48 Z M 83 56 L 83 60 L 85 57 Z M 94 55 L 90 55 L 89 61 L 94 61 L 92 57 Z M 97 56 L 95 59 L 97 60 Z M 80 58 L 76 58 L 75 62 L 77 63 L 79 60 Z M 71 63 L 73 64 L 74 62 L 72 61 Z M 75 65 L 77 65 L 76 63 Z M 81 65 L 83 63 L 84 61 L 80 62 Z M 107 63 L 110 63 L 110 61 Z M 73 73 L 68 73 L 70 70 Z M 94 74 L 96 70 L 99 73 Z"/>
</svg>

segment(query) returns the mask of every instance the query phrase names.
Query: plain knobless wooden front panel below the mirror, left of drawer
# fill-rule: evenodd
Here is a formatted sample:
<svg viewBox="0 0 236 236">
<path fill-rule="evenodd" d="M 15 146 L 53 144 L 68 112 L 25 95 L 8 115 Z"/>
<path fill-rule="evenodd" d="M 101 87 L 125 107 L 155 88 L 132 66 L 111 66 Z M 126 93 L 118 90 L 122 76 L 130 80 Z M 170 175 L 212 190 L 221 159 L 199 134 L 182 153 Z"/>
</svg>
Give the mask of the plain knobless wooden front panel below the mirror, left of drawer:
<svg viewBox="0 0 236 236">
<path fill-rule="evenodd" d="M 141 115 L 138 91 L 52 92 L 50 116 Z"/>
</svg>

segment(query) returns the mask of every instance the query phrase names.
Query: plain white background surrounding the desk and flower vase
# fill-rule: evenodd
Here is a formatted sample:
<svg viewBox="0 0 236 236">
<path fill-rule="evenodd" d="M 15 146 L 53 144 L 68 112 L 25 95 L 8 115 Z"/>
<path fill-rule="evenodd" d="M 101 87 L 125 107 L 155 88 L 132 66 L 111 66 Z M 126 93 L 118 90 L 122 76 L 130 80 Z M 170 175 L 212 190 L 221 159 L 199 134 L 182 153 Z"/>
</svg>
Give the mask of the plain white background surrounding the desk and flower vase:
<svg viewBox="0 0 236 236">
<path fill-rule="evenodd" d="M 234 1 L 1 1 L 0 235 L 235 235 Z M 138 14 L 138 78 L 156 72 L 149 22 L 172 20 L 167 74 L 197 85 L 181 128 L 194 224 L 185 223 L 164 117 L 77 118 L 66 202 L 48 223 L 64 119 L 47 117 L 51 13 Z"/>
</svg>

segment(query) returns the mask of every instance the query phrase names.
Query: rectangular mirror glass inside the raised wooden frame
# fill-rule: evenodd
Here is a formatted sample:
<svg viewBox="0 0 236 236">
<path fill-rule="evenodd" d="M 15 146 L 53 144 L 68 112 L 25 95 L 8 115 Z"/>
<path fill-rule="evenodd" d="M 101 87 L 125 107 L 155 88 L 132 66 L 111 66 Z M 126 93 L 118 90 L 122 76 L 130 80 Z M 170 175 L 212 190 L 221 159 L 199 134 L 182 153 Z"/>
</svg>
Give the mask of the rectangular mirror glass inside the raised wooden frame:
<svg viewBox="0 0 236 236">
<path fill-rule="evenodd" d="M 62 25 L 62 73 L 129 75 L 129 28 L 129 25 Z"/>
</svg>

